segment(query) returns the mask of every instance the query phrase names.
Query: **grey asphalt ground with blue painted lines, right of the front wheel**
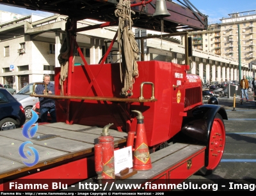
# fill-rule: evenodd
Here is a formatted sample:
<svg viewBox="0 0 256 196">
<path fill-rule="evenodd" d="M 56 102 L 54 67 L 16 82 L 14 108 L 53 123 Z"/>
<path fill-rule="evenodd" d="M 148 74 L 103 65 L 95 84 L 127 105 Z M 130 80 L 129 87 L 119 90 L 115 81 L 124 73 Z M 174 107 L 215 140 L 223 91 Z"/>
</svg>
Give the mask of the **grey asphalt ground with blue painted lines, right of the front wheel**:
<svg viewBox="0 0 256 196">
<path fill-rule="evenodd" d="M 224 121 L 226 145 L 221 162 L 211 175 L 193 175 L 187 181 L 211 179 L 218 183 L 221 179 L 228 179 L 236 183 L 243 179 L 245 182 L 253 180 L 252 183 L 256 184 L 256 105 L 252 93 L 249 100 L 241 105 L 240 99 L 236 99 L 236 111 L 233 111 L 233 98 L 219 98 L 228 115 L 228 120 Z"/>
</svg>

